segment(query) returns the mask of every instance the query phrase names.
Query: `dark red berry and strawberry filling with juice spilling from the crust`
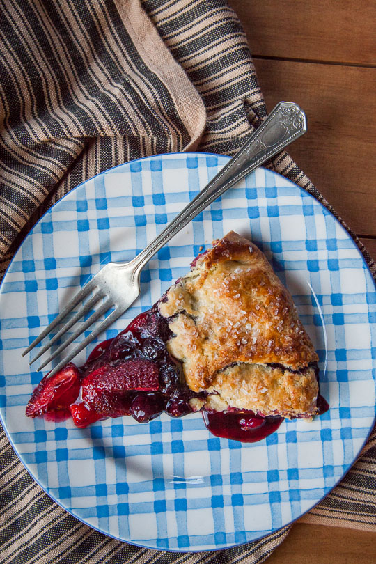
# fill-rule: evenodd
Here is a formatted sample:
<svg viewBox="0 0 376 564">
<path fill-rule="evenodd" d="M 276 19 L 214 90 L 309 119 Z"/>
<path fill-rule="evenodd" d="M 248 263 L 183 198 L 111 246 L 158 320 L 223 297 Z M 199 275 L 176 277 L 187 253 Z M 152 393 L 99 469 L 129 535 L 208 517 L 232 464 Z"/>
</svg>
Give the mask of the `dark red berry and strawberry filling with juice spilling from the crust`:
<svg viewBox="0 0 376 564">
<path fill-rule="evenodd" d="M 77 427 L 85 428 L 107 417 L 131 415 L 147 423 L 162 412 L 171 417 L 194 412 L 190 400 L 205 400 L 207 394 L 195 393 L 185 384 L 180 363 L 166 348 L 171 336 L 156 304 L 116 338 L 97 345 L 84 366 L 69 363 L 52 378 L 45 376 L 31 395 L 26 416 L 42 415 L 54 421 L 72 416 Z M 322 413 L 326 411 L 323 402 L 322 398 Z M 217 437 L 242 442 L 264 439 L 283 421 L 279 416 L 236 410 L 203 412 L 203 418 Z"/>
</svg>

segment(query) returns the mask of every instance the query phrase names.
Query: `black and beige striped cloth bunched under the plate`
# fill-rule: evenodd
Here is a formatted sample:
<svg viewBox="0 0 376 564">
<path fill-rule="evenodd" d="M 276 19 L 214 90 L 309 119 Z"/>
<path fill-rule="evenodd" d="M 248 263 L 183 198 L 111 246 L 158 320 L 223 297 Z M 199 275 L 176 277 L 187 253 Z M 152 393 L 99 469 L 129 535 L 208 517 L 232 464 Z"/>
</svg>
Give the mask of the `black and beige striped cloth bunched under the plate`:
<svg viewBox="0 0 376 564">
<path fill-rule="evenodd" d="M 2 272 L 40 215 L 80 182 L 155 153 L 233 154 L 266 116 L 224 1 L 3 0 L 0 44 Z M 287 154 L 271 166 L 327 205 Z M 2 431 L 0 514 L 1 563 L 258 563 L 288 534 L 198 554 L 118 542 L 54 503 Z M 376 531 L 375 431 L 304 520 Z"/>
</svg>

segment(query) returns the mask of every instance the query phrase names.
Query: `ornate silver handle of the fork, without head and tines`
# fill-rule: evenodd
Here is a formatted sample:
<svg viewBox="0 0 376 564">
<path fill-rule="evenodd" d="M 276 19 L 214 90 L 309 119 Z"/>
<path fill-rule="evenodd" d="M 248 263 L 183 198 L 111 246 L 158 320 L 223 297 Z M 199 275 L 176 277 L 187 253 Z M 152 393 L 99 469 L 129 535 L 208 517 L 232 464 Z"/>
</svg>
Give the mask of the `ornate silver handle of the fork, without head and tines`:
<svg viewBox="0 0 376 564">
<path fill-rule="evenodd" d="M 306 132 L 306 115 L 294 102 L 279 102 L 267 119 L 249 137 L 244 146 L 210 180 L 201 192 L 159 233 L 146 249 L 131 263 L 135 274 L 141 272 L 146 263 L 176 233 L 185 227 L 205 207 L 224 194 L 228 188 L 256 169 L 260 164 L 274 157 L 276 153 Z M 128 263 L 129 264 L 129 263 Z M 119 263 L 116 263 L 119 265 Z"/>
</svg>

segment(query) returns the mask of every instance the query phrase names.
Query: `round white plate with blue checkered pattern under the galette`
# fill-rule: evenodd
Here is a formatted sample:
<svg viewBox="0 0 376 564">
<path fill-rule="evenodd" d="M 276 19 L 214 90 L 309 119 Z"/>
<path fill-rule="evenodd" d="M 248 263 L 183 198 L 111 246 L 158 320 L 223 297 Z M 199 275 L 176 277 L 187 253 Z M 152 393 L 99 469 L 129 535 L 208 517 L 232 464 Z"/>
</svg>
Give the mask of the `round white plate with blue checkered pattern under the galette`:
<svg viewBox="0 0 376 564">
<path fill-rule="evenodd" d="M 143 547 L 219 549 L 292 522 L 343 477 L 375 417 L 376 294 L 366 263 L 315 198 L 258 169 L 159 251 L 142 273 L 141 297 L 101 338 L 149 308 L 201 246 L 235 230 L 260 246 L 290 290 L 318 350 L 329 412 L 285 421 L 256 444 L 214 437 L 201 414 L 86 429 L 26 418 L 40 374 L 21 352 L 88 276 L 134 257 L 227 159 L 159 155 L 84 182 L 38 221 L 1 286 L 1 421 L 17 455 L 72 515 Z"/>
</svg>

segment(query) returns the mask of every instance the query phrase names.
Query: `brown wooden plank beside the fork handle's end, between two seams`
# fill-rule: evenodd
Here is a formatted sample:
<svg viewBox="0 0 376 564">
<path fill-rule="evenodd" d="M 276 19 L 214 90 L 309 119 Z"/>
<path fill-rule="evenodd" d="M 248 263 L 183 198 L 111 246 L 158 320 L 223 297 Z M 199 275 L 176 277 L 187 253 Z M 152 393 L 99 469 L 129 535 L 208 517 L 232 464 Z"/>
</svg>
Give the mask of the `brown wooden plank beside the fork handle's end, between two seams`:
<svg viewBox="0 0 376 564">
<path fill-rule="evenodd" d="M 288 148 L 347 225 L 376 235 L 376 70 L 254 59 L 270 111 L 297 102 L 308 133 Z"/>
</svg>

